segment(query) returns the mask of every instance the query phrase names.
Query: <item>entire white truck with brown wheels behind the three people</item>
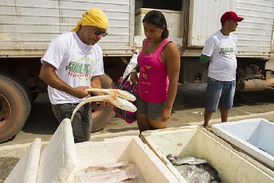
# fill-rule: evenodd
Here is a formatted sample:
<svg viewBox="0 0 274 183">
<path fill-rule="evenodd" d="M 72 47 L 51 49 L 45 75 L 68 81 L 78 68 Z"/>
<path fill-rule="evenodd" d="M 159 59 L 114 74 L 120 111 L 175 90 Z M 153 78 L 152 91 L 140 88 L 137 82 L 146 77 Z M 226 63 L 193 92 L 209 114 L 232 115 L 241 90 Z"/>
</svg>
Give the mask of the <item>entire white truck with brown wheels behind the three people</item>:
<svg viewBox="0 0 274 183">
<path fill-rule="evenodd" d="M 181 83 L 204 83 L 206 69 L 199 64 L 205 40 L 221 28 L 223 12 L 245 17 L 238 37 L 238 91 L 274 86 L 274 0 L 1 0 L 0 1 L 0 142 L 14 136 L 25 124 L 32 102 L 47 85 L 38 78 L 40 58 L 47 45 L 75 27 L 82 13 L 101 8 L 108 16 L 108 36 L 100 40 L 105 73 L 104 88 L 114 87 L 129 60 L 145 38 L 142 18 L 151 9 L 166 16 L 170 38 L 181 55 Z M 104 103 L 92 103 L 92 132 L 114 117 Z"/>
</svg>

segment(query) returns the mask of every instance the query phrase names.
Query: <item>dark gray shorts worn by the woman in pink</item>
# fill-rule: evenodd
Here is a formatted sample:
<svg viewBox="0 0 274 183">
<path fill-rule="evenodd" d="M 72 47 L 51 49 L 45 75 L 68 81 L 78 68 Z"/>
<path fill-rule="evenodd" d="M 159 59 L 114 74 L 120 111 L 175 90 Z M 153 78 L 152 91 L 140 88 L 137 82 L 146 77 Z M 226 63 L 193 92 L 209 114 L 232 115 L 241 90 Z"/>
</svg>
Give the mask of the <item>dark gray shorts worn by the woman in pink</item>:
<svg viewBox="0 0 274 183">
<path fill-rule="evenodd" d="M 151 120 L 161 120 L 161 112 L 164 109 L 165 102 L 161 103 L 147 103 L 138 97 L 135 106 L 137 108 L 136 114 L 147 114 L 147 118 Z"/>
</svg>

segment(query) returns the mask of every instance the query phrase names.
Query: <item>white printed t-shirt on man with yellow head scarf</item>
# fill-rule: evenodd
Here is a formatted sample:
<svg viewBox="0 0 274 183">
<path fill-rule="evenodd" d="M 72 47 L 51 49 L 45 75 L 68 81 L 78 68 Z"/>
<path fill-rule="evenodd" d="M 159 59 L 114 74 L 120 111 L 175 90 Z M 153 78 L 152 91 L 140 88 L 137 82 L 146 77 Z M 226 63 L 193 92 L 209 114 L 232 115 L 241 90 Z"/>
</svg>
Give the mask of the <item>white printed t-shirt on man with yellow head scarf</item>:
<svg viewBox="0 0 274 183">
<path fill-rule="evenodd" d="M 90 86 L 92 76 L 103 75 L 103 51 L 99 45 L 86 45 L 76 32 L 67 32 L 54 38 L 41 62 L 55 66 L 55 73 L 69 86 Z M 79 103 L 79 99 L 48 86 L 49 99 L 53 104 Z"/>
</svg>

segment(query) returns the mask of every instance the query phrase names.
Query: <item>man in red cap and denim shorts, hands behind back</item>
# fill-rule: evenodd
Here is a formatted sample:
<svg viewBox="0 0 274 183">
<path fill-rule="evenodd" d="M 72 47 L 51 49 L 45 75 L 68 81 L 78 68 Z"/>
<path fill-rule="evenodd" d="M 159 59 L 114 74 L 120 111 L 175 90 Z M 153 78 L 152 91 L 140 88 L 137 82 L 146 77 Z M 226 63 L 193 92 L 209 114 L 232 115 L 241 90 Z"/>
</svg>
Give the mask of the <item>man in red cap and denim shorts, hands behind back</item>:
<svg viewBox="0 0 274 183">
<path fill-rule="evenodd" d="M 244 18 L 235 12 L 225 12 L 221 16 L 222 28 L 208 40 L 200 56 L 200 62 L 208 67 L 208 86 L 206 89 L 206 107 L 203 127 L 208 128 L 208 121 L 219 106 L 221 121 L 226 122 L 228 110 L 233 106 L 236 86 L 238 22 Z"/>
</svg>

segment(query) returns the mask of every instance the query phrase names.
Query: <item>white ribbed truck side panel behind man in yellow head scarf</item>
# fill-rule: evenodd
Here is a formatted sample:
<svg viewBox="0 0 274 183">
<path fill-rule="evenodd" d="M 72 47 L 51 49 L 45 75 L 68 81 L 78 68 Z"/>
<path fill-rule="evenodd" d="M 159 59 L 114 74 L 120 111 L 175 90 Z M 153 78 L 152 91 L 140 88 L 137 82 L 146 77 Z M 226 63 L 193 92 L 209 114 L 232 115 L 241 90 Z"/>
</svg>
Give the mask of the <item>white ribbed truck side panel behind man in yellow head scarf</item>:
<svg viewBox="0 0 274 183">
<path fill-rule="evenodd" d="M 109 36 L 99 45 L 112 56 L 131 55 L 134 45 L 134 1 L 0 2 L 0 57 L 41 57 L 49 42 L 73 29 L 88 8 L 101 8 L 108 16 Z"/>
</svg>

